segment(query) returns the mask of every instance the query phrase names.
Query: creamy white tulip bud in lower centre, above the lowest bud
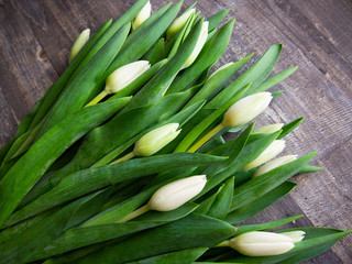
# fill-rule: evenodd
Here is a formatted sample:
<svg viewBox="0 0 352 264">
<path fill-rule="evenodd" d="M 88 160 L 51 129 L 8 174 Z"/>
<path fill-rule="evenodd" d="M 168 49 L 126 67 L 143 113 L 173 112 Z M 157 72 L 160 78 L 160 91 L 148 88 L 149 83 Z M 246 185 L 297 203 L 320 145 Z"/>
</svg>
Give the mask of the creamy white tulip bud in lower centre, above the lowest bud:
<svg viewBox="0 0 352 264">
<path fill-rule="evenodd" d="M 206 175 L 197 175 L 167 184 L 156 190 L 148 205 L 151 210 L 170 211 L 196 197 L 207 184 Z"/>
</svg>

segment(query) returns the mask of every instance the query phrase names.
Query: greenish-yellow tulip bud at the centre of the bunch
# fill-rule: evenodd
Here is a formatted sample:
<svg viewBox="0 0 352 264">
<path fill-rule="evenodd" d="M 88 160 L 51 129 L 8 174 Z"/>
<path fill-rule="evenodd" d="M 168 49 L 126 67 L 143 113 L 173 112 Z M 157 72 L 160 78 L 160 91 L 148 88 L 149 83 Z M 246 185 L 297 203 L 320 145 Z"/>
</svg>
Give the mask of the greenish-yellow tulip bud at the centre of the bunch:
<svg viewBox="0 0 352 264">
<path fill-rule="evenodd" d="M 151 156 L 172 142 L 180 132 L 178 123 L 169 123 L 143 135 L 134 145 L 135 156 Z"/>
</svg>

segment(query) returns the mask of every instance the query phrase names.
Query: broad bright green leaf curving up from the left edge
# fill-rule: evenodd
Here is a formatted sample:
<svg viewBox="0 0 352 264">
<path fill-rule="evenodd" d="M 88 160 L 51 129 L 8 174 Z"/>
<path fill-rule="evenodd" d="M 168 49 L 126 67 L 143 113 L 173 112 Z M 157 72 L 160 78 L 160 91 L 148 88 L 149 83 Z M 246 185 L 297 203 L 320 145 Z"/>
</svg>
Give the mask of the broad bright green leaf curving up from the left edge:
<svg viewBox="0 0 352 264">
<path fill-rule="evenodd" d="M 124 107 L 129 100 L 130 98 L 121 98 L 82 109 L 67 117 L 45 133 L 15 163 L 0 183 L 0 226 L 4 223 L 23 197 L 65 150 Z M 48 145 L 51 147 L 47 147 Z"/>
</svg>

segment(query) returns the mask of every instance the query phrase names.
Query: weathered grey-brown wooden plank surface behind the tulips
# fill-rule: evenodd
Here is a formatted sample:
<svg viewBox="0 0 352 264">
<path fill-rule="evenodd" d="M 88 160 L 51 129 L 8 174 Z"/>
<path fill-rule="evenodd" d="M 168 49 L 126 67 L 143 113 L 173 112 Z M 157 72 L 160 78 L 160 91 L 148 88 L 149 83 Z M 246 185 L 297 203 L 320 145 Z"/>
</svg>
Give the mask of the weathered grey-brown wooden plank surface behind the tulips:
<svg viewBox="0 0 352 264">
<path fill-rule="evenodd" d="M 0 145 L 67 66 L 69 48 L 86 28 L 95 31 L 120 16 L 134 1 L 0 0 Z M 186 0 L 184 8 L 191 4 Z M 152 0 L 154 10 L 166 1 Z M 290 227 L 352 228 L 352 2 L 350 0 L 201 0 L 206 16 L 231 9 L 235 29 L 219 64 L 252 52 L 257 58 L 284 43 L 278 73 L 299 69 L 277 85 L 276 98 L 258 124 L 306 117 L 287 138 L 287 153 L 318 150 L 314 163 L 324 169 L 295 178 L 298 187 L 255 217 L 268 221 L 304 213 Z M 254 61 L 253 58 L 253 61 Z M 289 227 L 288 226 L 288 227 Z M 352 235 L 306 263 L 352 263 Z"/>
</svg>

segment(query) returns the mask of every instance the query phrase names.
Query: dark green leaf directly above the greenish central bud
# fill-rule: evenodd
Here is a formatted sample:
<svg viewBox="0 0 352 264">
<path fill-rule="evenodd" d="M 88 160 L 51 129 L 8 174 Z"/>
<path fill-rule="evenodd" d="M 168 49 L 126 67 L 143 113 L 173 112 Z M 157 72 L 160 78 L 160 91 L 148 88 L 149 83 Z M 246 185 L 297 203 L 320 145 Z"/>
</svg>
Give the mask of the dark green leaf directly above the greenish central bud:
<svg viewBox="0 0 352 264">
<path fill-rule="evenodd" d="M 97 162 L 100 165 L 106 165 L 111 161 L 105 158 L 107 154 L 116 152 L 114 154 L 119 155 L 119 153 L 131 145 L 131 143 L 127 143 L 131 138 L 141 133 L 150 125 L 161 122 L 161 113 L 172 116 L 177 112 L 189 100 L 190 96 L 190 91 L 185 91 L 164 97 L 154 105 L 138 108 L 118 117 L 116 116 L 106 124 L 94 129 L 86 135 L 70 163 L 52 176 L 43 178 L 25 198 L 26 204 L 50 190 L 52 186 L 57 185 L 62 178 L 73 172 L 97 166 Z M 127 143 L 127 146 L 122 146 L 124 143 Z M 119 146 L 121 148 L 117 150 Z M 116 155 L 112 155 L 110 158 L 113 160 Z"/>
</svg>

